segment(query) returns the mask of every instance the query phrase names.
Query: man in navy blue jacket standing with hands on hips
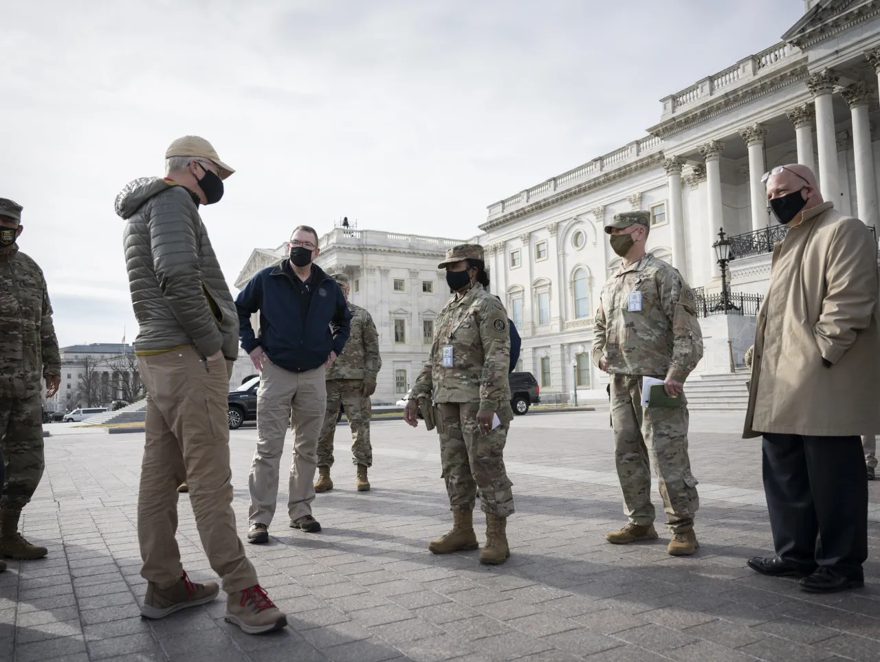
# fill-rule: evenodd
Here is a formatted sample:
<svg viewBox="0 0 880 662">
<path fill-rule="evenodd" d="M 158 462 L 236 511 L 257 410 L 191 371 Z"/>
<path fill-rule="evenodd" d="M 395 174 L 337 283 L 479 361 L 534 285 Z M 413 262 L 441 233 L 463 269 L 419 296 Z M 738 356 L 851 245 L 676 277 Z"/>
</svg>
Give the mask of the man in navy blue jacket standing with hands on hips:
<svg viewBox="0 0 880 662">
<path fill-rule="evenodd" d="M 351 313 L 336 281 L 312 263 L 318 253 L 318 233 L 300 225 L 290 237 L 290 260 L 253 276 L 235 301 L 241 346 L 260 371 L 257 452 L 248 481 L 247 540 L 253 543 L 268 541 L 289 421 L 294 431 L 290 527 L 309 533 L 321 530 L 312 517 L 312 501 L 326 408 L 325 371 L 345 347 Z M 257 312 L 259 336 L 251 326 L 251 315 Z"/>
</svg>

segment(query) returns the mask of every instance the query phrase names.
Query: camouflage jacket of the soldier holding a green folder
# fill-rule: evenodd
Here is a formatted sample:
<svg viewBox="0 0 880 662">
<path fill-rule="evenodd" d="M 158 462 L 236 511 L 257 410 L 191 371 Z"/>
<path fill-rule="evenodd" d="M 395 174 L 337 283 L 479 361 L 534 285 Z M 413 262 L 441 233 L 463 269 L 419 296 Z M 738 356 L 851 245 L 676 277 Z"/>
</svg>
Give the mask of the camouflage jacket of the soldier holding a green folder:
<svg viewBox="0 0 880 662">
<path fill-rule="evenodd" d="M 641 311 L 629 310 L 633 291 L 642 293 Z M 693 292 L 678 269 L 645 254 L 608 279 L 596 312 L 594 364 L 604 357 L 612 374 L 665 375 L 683 382 L 702 356 Z"/>
</svg>

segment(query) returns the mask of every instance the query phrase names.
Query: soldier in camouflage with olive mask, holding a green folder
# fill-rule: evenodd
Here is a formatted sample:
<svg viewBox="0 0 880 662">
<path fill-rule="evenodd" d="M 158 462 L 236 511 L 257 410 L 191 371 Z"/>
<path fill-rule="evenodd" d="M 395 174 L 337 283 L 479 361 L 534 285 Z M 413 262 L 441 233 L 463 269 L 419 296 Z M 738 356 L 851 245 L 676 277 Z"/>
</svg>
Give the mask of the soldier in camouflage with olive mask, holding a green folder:
<svg viewBox="0 0 880 662">
<path fill-rule="evenodd" d="M 605 225 L 623 265 L 602 289 L 593 361 L 612 376 L 614 457 L 629 519 L 605 538 L 615 544 L 656 540 L 650 458 L 673 534 L 667 551 L 689 555 L 699 547 L 693 516 L 700 501 L 687 455 L 682 388 L 703 355 L 703 342 L 693 292 L 677 269 L 645 253 L 649 226 L 647 211 L 617 214 Z M 666 394 L 682 404 L 642 408 L 644 376 L 663 379 Z"/>
</svg>

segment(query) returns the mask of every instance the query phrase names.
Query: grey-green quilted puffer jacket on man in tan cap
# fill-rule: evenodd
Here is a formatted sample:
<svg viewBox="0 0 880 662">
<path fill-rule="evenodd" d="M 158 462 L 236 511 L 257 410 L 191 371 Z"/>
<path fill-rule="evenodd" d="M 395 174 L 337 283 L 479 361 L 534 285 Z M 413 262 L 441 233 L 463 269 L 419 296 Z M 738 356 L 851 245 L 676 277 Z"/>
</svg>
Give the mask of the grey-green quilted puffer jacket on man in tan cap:
<svg viewBox="0 0 880 662">
<path fill-rule="evenodd" d="M 238 357 L 238 313 L 199 216 L 198 197 L 158 177 L 134 180 L 116 196 L 136 354 L 194 345 L 204 357 Z"/>
</svg>

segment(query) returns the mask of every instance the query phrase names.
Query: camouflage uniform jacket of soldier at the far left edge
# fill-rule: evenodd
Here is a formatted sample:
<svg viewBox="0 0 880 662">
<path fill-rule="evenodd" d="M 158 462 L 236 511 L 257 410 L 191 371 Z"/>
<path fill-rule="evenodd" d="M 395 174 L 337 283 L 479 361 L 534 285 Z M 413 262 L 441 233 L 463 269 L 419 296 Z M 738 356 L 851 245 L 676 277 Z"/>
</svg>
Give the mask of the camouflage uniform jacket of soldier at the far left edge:
<svg viewBox="0 0 880 662">
<path fill-rule="evenodd" d="M 40 377 L 60 377 L 46 278 L 18 247 L 0 251 L 0 396 L 40 394 Z"/>
</svg>

